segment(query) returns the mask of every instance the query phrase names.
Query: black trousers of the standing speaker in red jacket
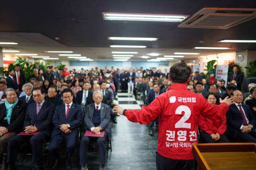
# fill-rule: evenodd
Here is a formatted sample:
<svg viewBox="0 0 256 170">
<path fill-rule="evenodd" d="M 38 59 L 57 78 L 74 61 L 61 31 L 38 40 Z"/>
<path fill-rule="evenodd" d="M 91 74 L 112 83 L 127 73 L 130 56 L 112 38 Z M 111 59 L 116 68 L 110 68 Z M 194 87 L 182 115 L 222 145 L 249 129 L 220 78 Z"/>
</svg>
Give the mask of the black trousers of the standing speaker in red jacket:
<svg viewBox="0 0 256 170">
<path fill-rule="evenodd" d="M 170 159 L 156 153 L 156 170 L 194 170 L 194 159 Z"/>
</svg>

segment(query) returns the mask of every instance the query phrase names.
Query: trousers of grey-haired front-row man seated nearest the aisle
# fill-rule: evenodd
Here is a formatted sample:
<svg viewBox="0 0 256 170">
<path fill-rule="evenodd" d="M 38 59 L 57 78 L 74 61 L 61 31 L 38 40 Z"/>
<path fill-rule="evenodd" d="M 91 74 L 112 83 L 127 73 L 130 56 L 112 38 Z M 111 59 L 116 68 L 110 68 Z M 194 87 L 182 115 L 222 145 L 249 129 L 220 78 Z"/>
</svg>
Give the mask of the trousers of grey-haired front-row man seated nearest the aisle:
<svg viewBox="0 0 256 170">
<path fill-rule="evenodd" d="M 80 144 L 80 165 L 86 165 L 87 164 L 87 152 L 88 147 L 91 141 L 97 141 L 97 146 L 99 150 L 99 160 L 100 165 L 106 164 L 106 138 L 108 136 L 108 133 L 105 131 L 104 137 L 88 137 L 84 136 L 81 140 Z"/>
</svg>

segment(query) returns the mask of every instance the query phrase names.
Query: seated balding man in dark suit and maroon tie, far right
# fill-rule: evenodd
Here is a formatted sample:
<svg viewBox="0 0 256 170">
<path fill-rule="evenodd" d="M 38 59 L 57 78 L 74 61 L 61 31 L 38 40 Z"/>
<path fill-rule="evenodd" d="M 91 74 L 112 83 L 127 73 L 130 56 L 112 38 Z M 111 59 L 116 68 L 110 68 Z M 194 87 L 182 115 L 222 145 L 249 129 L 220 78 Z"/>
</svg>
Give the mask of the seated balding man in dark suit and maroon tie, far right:
<svg viewBox="0 0 256 170">
<path fill-rule="evenodd" d="M 249 106 L 242 104 L 243 94 L 239 90 L 231 93 L 234 104 L 229 106 L 226 113 L 227 136 L 239 139 L 241 142 L 256 143 L 256 133 L 254 133 L 256 119 Z"/>
</svg>

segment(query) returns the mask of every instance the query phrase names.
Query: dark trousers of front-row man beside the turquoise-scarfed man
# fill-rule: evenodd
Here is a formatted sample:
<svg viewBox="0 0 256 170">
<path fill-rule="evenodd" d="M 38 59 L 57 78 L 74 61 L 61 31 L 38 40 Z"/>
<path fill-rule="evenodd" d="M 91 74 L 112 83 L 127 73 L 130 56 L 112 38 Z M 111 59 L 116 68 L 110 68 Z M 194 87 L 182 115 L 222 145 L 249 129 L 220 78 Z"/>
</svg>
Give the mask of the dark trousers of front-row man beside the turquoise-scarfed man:
<svg viewBox="0 0 256 170">
<path fill-rule="evenodd" d="M 42 143 L 44 140 L 46 140 L 46 138 L 46 135 L 42 132 L 38 135 L 16 135 L 12 137 L 7 147 L 7 162 L 14 162 L 17 157 L 20 145 L 27 142 L 29 142 L 32 147 L 32 162 L 38 162 L 42 160 Z"/>
</svg>

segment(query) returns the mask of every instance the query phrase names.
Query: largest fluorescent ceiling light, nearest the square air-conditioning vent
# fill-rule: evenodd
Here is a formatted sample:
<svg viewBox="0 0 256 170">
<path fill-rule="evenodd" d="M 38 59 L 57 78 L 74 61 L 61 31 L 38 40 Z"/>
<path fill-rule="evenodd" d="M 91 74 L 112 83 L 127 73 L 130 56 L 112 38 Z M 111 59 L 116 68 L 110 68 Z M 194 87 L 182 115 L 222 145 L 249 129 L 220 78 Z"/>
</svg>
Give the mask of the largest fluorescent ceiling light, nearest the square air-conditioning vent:
<svg viewBox="0 0 256 170">
<path fill-rule="evenodd" d="M 134 21 L 168 21 L 181 22 L 188 15 L 165 15 L 165 14 L 133 14 L 133 13 L 106 13 L 102 12 L 104 20 L 134 20 Z"/>
</svg>

